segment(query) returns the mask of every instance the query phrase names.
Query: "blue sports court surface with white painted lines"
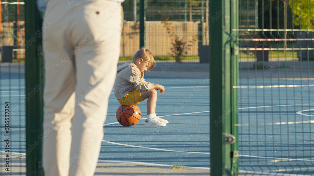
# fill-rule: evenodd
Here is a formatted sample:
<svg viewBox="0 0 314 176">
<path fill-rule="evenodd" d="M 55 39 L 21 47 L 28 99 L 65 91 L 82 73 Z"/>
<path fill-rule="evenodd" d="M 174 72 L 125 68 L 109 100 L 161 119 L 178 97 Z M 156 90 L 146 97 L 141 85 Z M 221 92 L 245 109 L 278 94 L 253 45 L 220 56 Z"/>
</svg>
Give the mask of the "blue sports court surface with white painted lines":
<svg viewBox="0 0 314 176">
<path fill-rule="evenodd" d="M 0 112 L 10 102 L 10 152 L 26 153 L 24 75 L 0 75 Z M 165 127 L 144 128 L 146 100 L 138 104 L 142 118 L 133 127 L 116 120 L 119 103 L 109 100 L 100 162 L 153 166 L 184 165 L 209 169 L 209 78 L 145 77 L 165 86 L 158 91 L 156 114 L 169 121 Z M 240 79 L 239 170 L 265 175 L 314 175 L 313 84 L 301 79 Z M 274 86 L 259 88 L 256 86 Z M 275 85 L 282 85 L 276 87 Z M 255 87 L 254 87 L 255 86 Z M 29 95 L 26 95 L 29 96 Z M 4 121 L 1 120 L 1 151 Z M 313 147 L 314 148 L 314 147 Z"/>
</svg>

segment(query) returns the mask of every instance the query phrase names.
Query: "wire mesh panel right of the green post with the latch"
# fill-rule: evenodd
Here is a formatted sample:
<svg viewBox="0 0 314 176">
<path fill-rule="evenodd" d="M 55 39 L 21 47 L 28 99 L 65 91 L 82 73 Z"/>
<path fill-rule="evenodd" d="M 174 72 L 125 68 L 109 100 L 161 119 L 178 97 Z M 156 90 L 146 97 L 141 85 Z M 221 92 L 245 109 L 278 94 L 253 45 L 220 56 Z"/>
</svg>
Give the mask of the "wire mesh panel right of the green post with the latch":
<svg viewBox="0 0 314 176">
<path fill-rule="evenodd" d="M 239 170 L 314 175 L 314 1 L 239 6 Z"/>
</svg>

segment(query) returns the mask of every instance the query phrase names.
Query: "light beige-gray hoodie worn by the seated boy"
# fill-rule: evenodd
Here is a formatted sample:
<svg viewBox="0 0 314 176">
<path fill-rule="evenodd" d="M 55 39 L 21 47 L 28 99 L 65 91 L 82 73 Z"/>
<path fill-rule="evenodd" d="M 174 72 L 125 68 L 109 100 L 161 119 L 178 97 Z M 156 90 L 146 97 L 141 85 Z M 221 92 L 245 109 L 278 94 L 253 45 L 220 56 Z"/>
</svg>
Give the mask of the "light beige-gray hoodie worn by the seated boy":
<svg viewBox="0 0 314 176">
<path fill-rule="evenodd" d="M 114 93 L 117 99 L 122 99 L 127 93 L 133 90 L 149 90 L 154 88 L 153 83 L 146 82 L 141 73 L 132 61 L 127 61 L 117 68 Z"/>
</svg>

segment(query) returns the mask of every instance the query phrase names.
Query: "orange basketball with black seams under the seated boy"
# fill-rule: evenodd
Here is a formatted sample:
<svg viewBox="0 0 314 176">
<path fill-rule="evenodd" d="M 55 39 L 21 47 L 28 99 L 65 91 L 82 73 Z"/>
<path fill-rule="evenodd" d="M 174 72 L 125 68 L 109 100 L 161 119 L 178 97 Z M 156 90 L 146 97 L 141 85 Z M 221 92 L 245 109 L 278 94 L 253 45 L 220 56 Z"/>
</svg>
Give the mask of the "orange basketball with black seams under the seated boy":
<svg viewBox="0 0 314 176">
<path fill-rule="evenodd" d="M 121 125 L 134 126 L 141 119 L 141 110 L 137 106 L 121 105 L 117 110 L 116 117 Z"/>
</svg>

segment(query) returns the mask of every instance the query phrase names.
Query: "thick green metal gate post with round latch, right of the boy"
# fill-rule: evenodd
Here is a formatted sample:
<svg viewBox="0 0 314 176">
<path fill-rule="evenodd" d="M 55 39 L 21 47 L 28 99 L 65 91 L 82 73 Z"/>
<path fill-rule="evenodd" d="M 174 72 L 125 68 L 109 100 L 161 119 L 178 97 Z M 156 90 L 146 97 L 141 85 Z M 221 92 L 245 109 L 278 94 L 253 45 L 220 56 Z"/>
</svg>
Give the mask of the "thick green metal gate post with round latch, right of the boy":
<svg viewBox="0 0 314 176">
<path fill-rule="evenodd" d="M 210 168 L 211 175 L 231 175 L 231 26 L 230 0 L 210 1 Z"/>
</svg>

